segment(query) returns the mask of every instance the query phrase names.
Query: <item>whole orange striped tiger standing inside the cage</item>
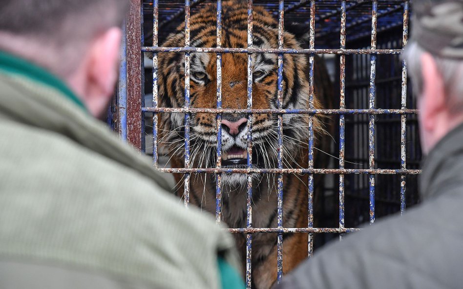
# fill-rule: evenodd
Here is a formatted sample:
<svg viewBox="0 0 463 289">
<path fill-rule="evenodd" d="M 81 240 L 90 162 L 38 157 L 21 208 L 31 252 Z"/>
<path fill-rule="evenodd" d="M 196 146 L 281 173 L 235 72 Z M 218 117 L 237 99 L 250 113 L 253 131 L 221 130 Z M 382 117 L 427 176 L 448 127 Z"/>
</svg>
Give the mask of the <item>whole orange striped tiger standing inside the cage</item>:
<svg viewBox="0 0 463 289">
<path fill-rule="evenodd" d="M 229 0 L 222 4 L 222 47 L 246 48 L 247 5 L 245 1 Z M 191 15 L 189 25 L 190 46 L 216 47 L 216 4 L 209 3 Z M 289 25 L 291 27 L 292 25 Z M 284 31 L 284 48 L 300 49 L 303 35 L 300 29 Z M 253 48 L 278 47 L 278 22 L 260 6 L 253 7 Z M 185 26 L 178 26 L 163 47 L 185 46 Z M 277 54 L 252 54 L 252 108 L 276 109 L 277 104 Z M 190 107 L 217 107 L 216 54 L 194 52 L 190 54 Z M 247 109 L 247 54 L 222 54 L 222 107 Z M 332 85 L 326 68 L 316 58 L 313 107 L 322 108 L 328 103 Z M 158 54 L 158 95 L 160 107 L 183 108 L 185 105 L 185 53 Z M 284 109 L 308 109 L 309 106 L 309 56 L 285 54 L 283 56 Z M 185 115 L 160 113 L 159 148 L 166 152 L 172 168 L 184 167 Z M 277 115 L 252 116 L 252 167 L 256 169 L 277 167 Z M 308 167 L 308 115 L 284 114 L 282 162 L 284 168 Z M 247 168 L 248 116 L 223 113 L 221 120 L 222 168 Z M 316 142 L 326 138 L 329 131 L 326 119 L 312 116 Z M 190 167 L 215 168 L 217 150 L 216 115 L 191 113 Z M 316 158 L 318 156 L 316 155 Z M 183 197 L 184 174 L 174 174 L 177 182 L 175 193 Z M 287 228 L 308 226 L 308 176 L 284 174 L 283 176 L 283 225 Z M 222 173 L 221 221 L 229 228 L 245 228 L 247 221 L 247 174 Z M 252 225 L 254 228 L 277 227 L 277 176 L 252 174 Z M 215 174 L 193 174 L 190 179 L 189 201 L 210 213 L 216 209 Z M 233 234 L 243 260 L 246 260 L 246 234 Z M 277 279 L 276 233 L 252 234 L 252 288 L 269 289 Z M 283 234 L 283 274 L 307 258 L 308 234 Z"/>
</svg>

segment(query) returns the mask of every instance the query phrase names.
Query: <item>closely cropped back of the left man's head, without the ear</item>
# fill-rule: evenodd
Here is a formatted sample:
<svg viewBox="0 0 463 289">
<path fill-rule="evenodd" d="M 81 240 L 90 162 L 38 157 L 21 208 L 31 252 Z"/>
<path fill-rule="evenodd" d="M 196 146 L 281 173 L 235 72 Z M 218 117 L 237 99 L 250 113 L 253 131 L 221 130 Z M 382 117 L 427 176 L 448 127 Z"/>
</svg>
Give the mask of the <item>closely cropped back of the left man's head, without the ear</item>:
<svg viewBox="0 0 463 289">
<path fill-rule="evenodd" d="M 66 77 L 89 42 L 120 27 L 128 0 L 1 0 L 0 49 Z"/>
</svg>

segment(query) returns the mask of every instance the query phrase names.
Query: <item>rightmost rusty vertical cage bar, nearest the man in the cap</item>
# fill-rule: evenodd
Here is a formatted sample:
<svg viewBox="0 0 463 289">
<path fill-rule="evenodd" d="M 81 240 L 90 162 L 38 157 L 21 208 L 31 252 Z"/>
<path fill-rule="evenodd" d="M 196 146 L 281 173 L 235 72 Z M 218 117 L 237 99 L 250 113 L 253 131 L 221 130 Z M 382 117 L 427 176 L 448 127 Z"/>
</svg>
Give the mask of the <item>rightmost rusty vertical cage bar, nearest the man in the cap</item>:
<svg viewBox="0 0 463 289">
<path fill-rule="evenodd" d="M 403 3 L 403 32 L 402 32 L 402 48 L 407 45 L 408 40 L 408 4 L 409 1 Z M 407 107 L 407 62 L 402 60 L 402 91 L 401 91 L 401 109 Z M 406 130 L 407 116 L 400 116 L 400 168 L 406 169 L 406 143 L 407 143 L 407 130 Z M 400 175 L 400 214 L 405 212 L 405 190 L 406 190 L 406 175 Z"/>
</svg>

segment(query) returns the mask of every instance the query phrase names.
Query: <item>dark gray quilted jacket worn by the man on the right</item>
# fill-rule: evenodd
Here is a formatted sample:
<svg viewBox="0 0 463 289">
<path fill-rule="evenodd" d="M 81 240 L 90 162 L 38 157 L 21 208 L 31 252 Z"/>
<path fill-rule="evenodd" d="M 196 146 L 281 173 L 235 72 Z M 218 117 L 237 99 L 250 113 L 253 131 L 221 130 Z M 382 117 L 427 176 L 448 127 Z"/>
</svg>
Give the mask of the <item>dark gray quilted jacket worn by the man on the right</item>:
<svg viewBox="0 0 463 289">
<path fill-rule="evenodd" d="M 463 288 L 463 125 L 426 158 L 422 204 L 327 246 L 278 289 Z"/>
</svg>

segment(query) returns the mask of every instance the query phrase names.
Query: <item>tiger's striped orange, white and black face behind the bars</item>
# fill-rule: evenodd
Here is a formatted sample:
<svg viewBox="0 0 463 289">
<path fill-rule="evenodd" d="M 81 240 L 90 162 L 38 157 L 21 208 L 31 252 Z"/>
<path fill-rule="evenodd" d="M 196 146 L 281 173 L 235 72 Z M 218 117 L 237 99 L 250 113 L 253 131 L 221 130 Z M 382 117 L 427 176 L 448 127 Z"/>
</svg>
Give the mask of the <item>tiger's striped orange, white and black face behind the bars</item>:
<svg viewBox="0 0 463 289">
<path fill-rule="evenodd" d="M 241 2 L 224 2 L 222 47 L 247 47 L 247 7 Z M 277 48 L 278 24 L 261 7 L 253 10 L 253 47 Z M 170 35 L 163 46 L 179 47 L 185 42 L 184 26 Z M 190 19 L 190 46 L 216 47 L 215 6 L 210 5 Z M 285 32 L 285 48 L 301 48 L 295 36 Z M 184 107 L 185 55 L 159 54 L 160 104 L 165 107 Z M 283 57 L 283 108 L 309 108 L 308 61 L 305 55 L 286 54 Z M 222 107 L 246 109 L 248 107 L 247 54 L 222 54 Z M 190 107 L 217 107 L 217 57 L 213 53 L 190 54 Z M 252 55 L 252 107 L 276 109 L 277 106 L 276 54 Z M 315 107 L 318 103 L 315 99 Z M 177 163 L 184 157 L 184 114 L 164 114 L 161 118 L 160 146 Z M 248 122 L 246 114 L 222 114 L 222 167 L 246 168 Z M 307 162 L 301 156 L 307 148 L 308 116 L 283 115 L 283 166 L 300 168 Z M 314 127 L 318 119 L 314 117 Z M 277 116 L 252 116 L 252 145 L 254 168 L 276 168 Z M 192 167 L 210 168 L 216 164 L 217 121 L 215 114 L 192 114 L 190 118 L 190 161 Z M 306 166 L 306 165 L 305 165 Z M 257 177 L 257 176 L 256 176 Z M 245 174 L 223 174 L 222 183 L 230 186 L 246 184 Z"/>
</svg>

